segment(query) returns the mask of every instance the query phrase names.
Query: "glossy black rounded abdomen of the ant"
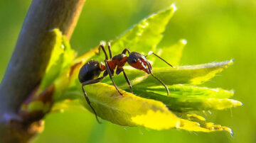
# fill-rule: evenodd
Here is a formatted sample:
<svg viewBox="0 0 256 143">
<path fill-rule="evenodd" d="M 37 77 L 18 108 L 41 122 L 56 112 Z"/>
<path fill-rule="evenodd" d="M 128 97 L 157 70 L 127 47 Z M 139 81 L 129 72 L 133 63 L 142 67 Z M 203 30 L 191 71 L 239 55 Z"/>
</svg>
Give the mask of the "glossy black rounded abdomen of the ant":
<svg viewBox="0 0 256 143">
<path fill-rule="evenodd" d="M 96 79 L 98 76 L 100 76 L 101 71 L 100 63 L 97 62 L 97 60 L 92 59 L 81 67 L 78 74 L 78 79 L 80 83 Z"/>
</svg>

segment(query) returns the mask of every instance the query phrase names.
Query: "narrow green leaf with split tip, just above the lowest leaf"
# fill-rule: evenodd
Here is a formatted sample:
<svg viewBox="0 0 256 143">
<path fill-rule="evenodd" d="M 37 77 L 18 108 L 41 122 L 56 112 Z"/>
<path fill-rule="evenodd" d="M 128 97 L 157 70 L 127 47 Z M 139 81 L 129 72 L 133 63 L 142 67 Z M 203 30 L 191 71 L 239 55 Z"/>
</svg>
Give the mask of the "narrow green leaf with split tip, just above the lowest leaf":
<svg viewBox="0 0 256 143">
<path fill-rule="evenodd" d="M 163 102 L 170 110 L 188 112 L 191 110 L 223 110 L 242 105 L 240 101 L 229 99 L 233 91 L 221 88 L 206 88 L 188 85 L 168 86 L 169 96 L 163 86 L 149 86 L 134 89 L 134 93 L 143 98 Z"/>
</svg>

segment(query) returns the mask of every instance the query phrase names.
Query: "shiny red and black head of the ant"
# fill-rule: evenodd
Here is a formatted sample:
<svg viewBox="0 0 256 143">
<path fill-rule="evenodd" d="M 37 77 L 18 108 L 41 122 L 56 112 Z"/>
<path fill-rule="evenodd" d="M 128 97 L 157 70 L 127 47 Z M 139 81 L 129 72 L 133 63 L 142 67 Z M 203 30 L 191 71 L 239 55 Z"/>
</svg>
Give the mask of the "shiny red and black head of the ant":
<svg viewBox="0 0 256 143">
<path fill-rule="evenodd" d="M 151 74 L 151 64 L 147 61 L 144 55 L 139 54 L 139 52 L 131 52 L 127 59 L 129 65 L 135 69 L 141 69 L 147 74 Z"/>
</svg>

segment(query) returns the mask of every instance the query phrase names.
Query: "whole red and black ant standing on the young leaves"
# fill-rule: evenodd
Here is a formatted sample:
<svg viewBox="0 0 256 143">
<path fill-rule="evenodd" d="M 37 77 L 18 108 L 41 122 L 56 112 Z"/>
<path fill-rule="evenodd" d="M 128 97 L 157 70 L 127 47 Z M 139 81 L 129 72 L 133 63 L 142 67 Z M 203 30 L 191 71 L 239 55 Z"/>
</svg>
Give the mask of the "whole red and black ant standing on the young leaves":
<svg viewBox="0 0 256 143">
<path fill-rule="evenodd" d="M 105 42 L 100 43 L 99 52 L 97 53 L 97 54 L 100 54 L 100 49 L 102 49 L 102 51 L 105 54 L 105 60 L 104 60 L 105 65 L 103 62 L 98 62 L 97 60 L 92 59 L 89 62 L 85 63 L 81 67 L 79 74 L 78 74 L 78 79 L 79 79 L 80 83 L 82 84 L 82 92 L 84 93 L 85 99 L 91 108 L 92 108 L 92 105 L 90 104 L 90 100 L 89 100 L 83 86 L 98 83 L 98 82 L 102 81 L 102 79 L 104 79 L 105 76 L 107 76 L 107 75 L 110 76 L 110 79 L 112 80 L 112 83 L 114 84 L 114 81 L 112 79 L 112 76 L 114 76 L 114 69 L 116 69 L 115 73 L 117 75 L 120 74 L 121 72 L 124 74 L 124 78 L 127 81 L 127 84 L 129 85 L 130 91 L 133 93 L 132 84 L 129 81 L 129 79 L 123 69 L 124 64 L 126 64 L 126 62 L 128 62 L 128 64 L 130 66 L 134 67 L 135 69 L 140 69 L 142 71 L 145 71 L 146 74 L 151 74 L 151 76 L 153 76 L 156 80 L 158 80 L 164 86 L 164 88 L 166 88 L 167 96 L 169 95 L 169 89 L 166 87 L 166 85 L 164 84 L 163 81 L 161 81 L 156 76 L 154 76 L 154 74 L 152 74 L 151 64 L 146 59 L 146 57 L 148 55 L 153 54 L 156 57 L 159 57 L 158 55 L 154 54 L 154 52 L 149 52 L 148 55 L 144 56 L 142 54 L 139 54 L 139 52 L 130 52 L 127 48 L 125 48 L 121 54 L 112 57 L 110 42 L 108 42 L 107 47 L 110 52 L 110 59 L 108 59 L 107 52 L 105 51 Z M 127 55 L 126 55 L 127 52 L 128 52 L 129 57 L 127 57 Z M 166 60 L 162 59 L 161 57 L 159 57 L 159 59 L 166 62 Z M 169 64 L 169 63 L 166 62 L 166 64 Z M 173 67 L 171 64 L 169 64 L 169 66 Z M 99 77 L 100 72 L 102 72 L 102 71 L 104 71 L 103 76 Z M 117 89 L 118 93 L 120 95 L 122 95 L 122 93 L 117 88 L 116 84 L 114 84 L 114 87 Z M 93 111 L 93 113 L 95 113 L 97 122 L 101 123 L 100 120 L 98 120 L 98 118 L 97 118 L 97 113 L 95 112 L 94 108 L 92 108 L 92 111 Z"/>
</svg>

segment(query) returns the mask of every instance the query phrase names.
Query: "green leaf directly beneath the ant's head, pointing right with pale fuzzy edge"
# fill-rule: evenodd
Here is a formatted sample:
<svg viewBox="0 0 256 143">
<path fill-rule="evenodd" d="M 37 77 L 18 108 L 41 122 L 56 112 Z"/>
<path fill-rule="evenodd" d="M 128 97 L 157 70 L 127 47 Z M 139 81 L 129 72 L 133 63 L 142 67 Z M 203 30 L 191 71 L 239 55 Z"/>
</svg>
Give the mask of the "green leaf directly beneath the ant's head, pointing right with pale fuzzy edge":
<svg viewBox="0 0 256 143">
<path fill-rule="evenodd" d="M 192 66 L 181 67 L 156 67 L 152 69 L 155 76 L 166 85 L 173 84 L 202 84 L 209 79 L 212 79 L 215 74 L 220 73 L 223 69 L 233 64 L 233 60 L 224 62 L 213 62 L 208 64 L 197 64 Z M 142 88 L 144 86 L 159 86 L 161 85 L 156 79 L 144 71 L 134 69 L 132 67 L 124 67 L 124 71 L 132 82 L 134 88 Z M 113 79 L 119 88 L 127 89 L 129 86 L 122 74 L 113 76 Z M 102 82 L 112 84 L 112 81 L 107 77 Z"/>
</svg>

